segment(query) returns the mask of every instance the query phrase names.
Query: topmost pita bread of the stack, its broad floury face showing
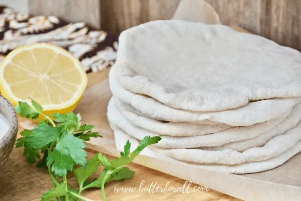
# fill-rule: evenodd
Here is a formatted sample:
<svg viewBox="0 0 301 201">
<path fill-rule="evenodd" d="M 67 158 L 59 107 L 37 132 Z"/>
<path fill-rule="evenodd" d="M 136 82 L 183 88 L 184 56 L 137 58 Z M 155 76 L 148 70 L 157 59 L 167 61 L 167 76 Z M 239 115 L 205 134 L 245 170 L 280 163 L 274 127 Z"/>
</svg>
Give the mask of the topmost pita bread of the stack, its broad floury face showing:
<svg viewBox="0 0 301 201">
<path fill-rule="evenodd" d="M 301 53 L 221 24 L 158 20 L 127 29 L 116 64 L 125 89 L 184 110 L 301 96 Z"/>
</svg>

